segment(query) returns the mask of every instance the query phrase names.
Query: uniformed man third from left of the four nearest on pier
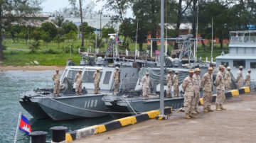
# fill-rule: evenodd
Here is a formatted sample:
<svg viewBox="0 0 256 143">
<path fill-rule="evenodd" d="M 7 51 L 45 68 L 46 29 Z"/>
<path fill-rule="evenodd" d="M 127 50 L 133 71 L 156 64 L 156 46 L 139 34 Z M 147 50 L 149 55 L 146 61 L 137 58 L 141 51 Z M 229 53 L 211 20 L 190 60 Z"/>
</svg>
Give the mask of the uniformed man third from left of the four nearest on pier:
<svg viewBox="0 0 256 143">
<path fill-rule="evenodd" d="M 210 109 L 210 103 L 213 100 L 213 67 L 208 67 L 208 72 L 203 75 L 201 84 L 203 86 L 203 112 L 213 112 Z"/>
</svg>

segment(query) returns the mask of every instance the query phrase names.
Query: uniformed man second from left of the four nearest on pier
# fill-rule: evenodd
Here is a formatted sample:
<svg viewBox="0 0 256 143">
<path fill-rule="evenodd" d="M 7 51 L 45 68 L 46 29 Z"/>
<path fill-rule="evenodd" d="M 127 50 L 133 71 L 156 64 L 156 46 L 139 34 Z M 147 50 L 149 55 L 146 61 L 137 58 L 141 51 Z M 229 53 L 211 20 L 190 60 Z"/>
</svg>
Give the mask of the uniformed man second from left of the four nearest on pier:
<svg viewBox="0 0 256 143">
<path fill-rule="evenodd" d="M 200 71 L 201 69 L 196 68 L 195 74 L 193 74 L 193 87 L 195 91 L 195 97 L 193 98 L 193 105 L 192 105 L 192 113 L 197 114 L 200 113 L 198 111 L 198 103 L 200 101 L 200 91 L 201 91 L 201 78 L 200 78 Z"/>
</svg>

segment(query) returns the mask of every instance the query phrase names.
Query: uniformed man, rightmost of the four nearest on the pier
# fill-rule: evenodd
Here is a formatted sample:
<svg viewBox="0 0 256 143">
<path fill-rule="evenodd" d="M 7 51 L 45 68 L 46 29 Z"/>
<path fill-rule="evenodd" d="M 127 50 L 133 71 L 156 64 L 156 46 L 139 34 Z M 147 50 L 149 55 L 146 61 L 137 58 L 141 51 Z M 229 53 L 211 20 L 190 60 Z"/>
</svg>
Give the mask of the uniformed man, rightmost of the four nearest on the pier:
<svg viewBox="0 0 256 143">
<path fill-rule="evenodd" d="M 216 105 L 216 110 L 218 111 L 225 110 L 225 108 L 223 108 L 223 104 L 225 100 L 225 81 L 224 81 L 223 72 L 225 70 L 225 67 L 223 65 L 220 65 L 219 70 L 220 71 L 218 71 L 218 74 L 215 79 L 215 86 L 217 89 L 217 97 L 216 97 L 215 105 Z"/>
</svg>

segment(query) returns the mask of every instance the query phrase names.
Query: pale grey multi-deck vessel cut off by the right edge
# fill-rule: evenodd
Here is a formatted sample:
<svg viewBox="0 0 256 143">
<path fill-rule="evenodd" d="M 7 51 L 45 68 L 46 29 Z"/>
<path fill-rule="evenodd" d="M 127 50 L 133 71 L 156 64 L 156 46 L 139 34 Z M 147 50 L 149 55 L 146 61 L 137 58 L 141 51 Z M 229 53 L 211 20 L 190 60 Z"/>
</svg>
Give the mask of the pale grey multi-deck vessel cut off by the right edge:
<svg viewBox="0 0 256 143">
<path fill-rule="evenodd" d="M 229 53 L 221 53 L 216 57 L 217 65 L 230 67 L 231 72 L 238 76 L 239 67 L 242 66 L 242 74 L 247 74 L 251 69 L 251 87 L 255 86 L 256 79 L 256 30 L 230 31 Z"/>
</svg>

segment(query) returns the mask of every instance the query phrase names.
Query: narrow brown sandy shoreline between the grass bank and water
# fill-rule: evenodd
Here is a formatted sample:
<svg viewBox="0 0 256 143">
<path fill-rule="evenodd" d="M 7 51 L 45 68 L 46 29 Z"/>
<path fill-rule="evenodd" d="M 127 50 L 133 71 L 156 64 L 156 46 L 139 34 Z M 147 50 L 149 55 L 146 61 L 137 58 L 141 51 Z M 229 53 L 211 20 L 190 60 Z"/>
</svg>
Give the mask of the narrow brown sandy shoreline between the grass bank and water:
<svg viewBox="0 0 256 143">
<path fill-rule="evenodd" d="M 58 66 L 0 66 L 0 71 L 46 71 L 46 70 L 64 70 L 65 67 Z"/>
</svg>

